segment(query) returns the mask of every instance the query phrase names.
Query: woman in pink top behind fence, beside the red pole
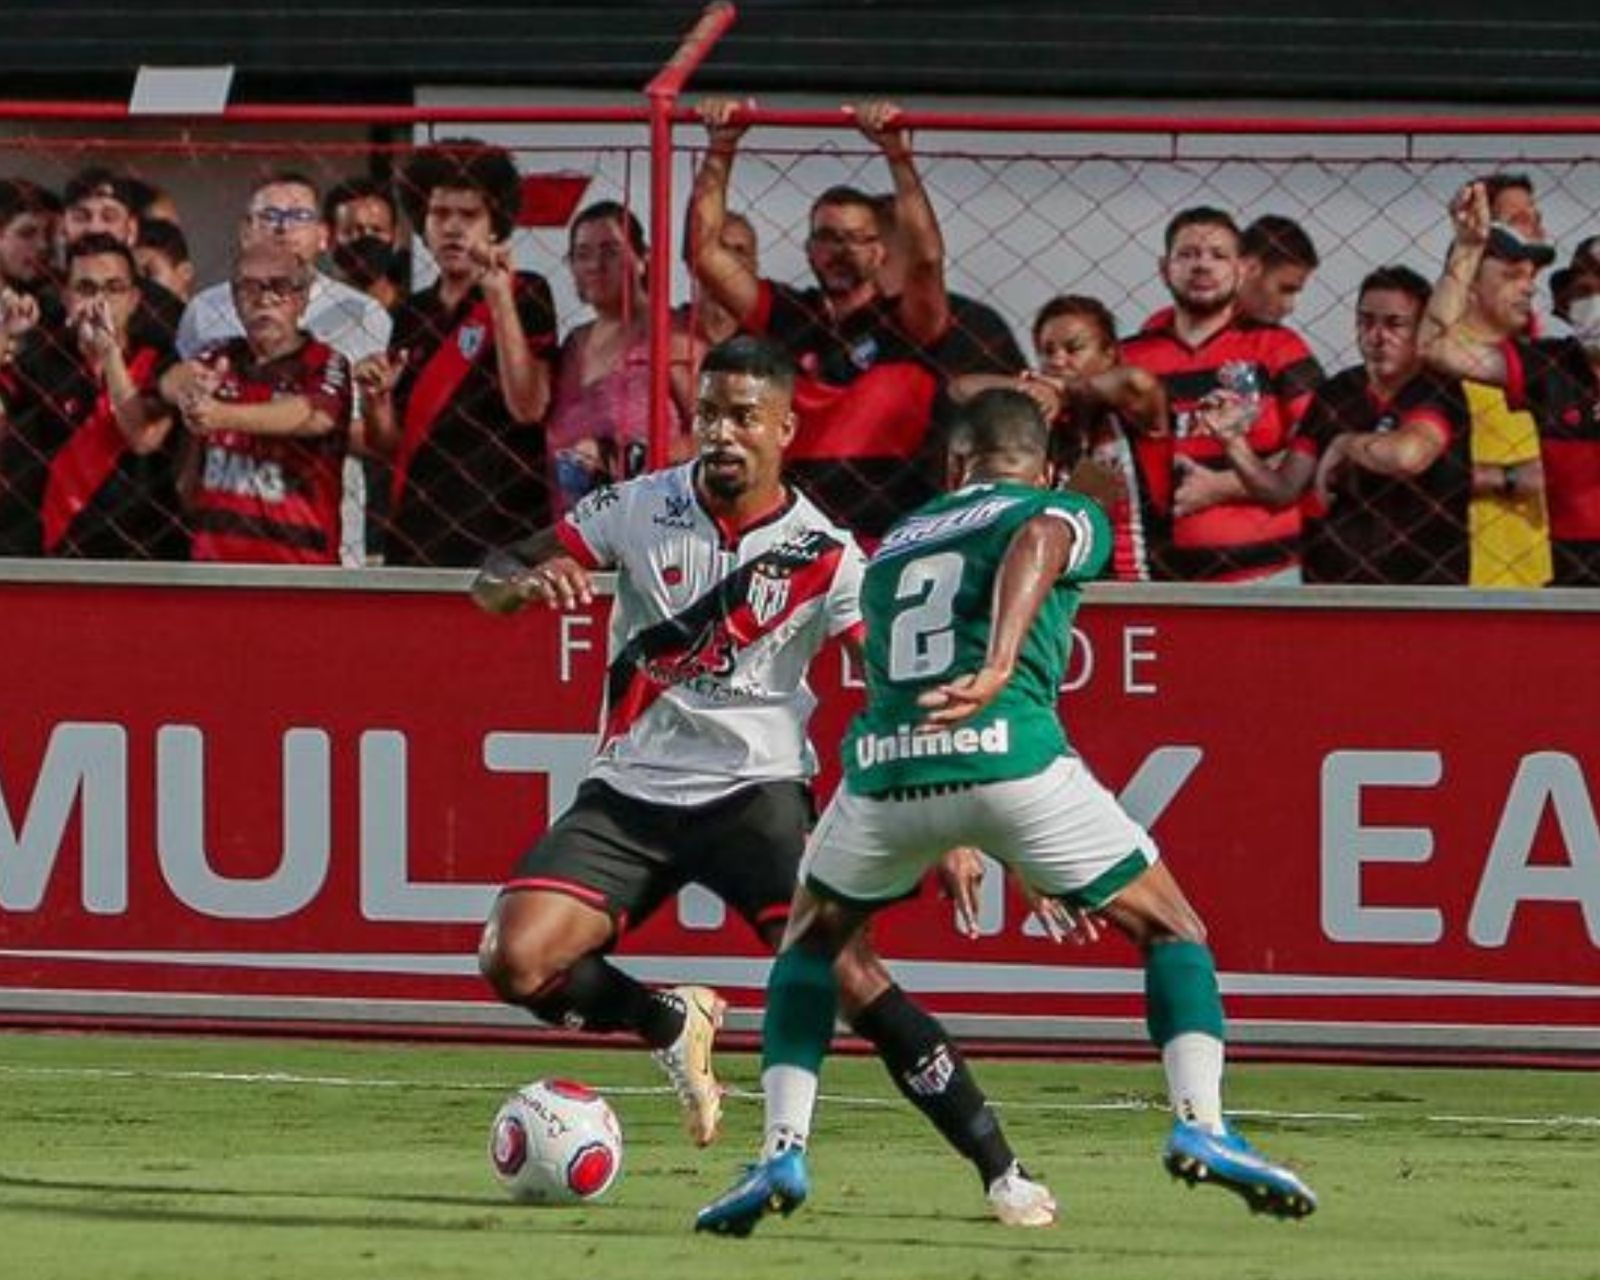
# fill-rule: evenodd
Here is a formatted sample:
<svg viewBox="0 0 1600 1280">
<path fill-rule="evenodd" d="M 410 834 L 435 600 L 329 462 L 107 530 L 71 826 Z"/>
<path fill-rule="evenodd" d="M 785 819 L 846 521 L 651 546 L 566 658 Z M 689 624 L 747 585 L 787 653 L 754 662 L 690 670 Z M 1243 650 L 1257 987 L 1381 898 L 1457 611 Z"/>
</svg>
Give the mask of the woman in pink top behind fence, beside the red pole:
<svg viewBox="0 0 1600 1280">
<path fill-rule="evenodd" d="M 552 515 L 565 515 L 590 490 L 642 474 L 650 440 L 645 229 L 614 200 L 589 205 L 573 219 L 566 264 L 595 318 L 566 334 L 557 358 L 544 424 Z M 672 453 L 682 461 L 694 395 L 690 334 L 674 330 L 672 346 Z"/>
</svg>

